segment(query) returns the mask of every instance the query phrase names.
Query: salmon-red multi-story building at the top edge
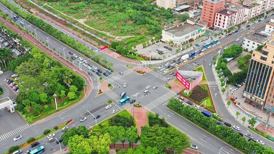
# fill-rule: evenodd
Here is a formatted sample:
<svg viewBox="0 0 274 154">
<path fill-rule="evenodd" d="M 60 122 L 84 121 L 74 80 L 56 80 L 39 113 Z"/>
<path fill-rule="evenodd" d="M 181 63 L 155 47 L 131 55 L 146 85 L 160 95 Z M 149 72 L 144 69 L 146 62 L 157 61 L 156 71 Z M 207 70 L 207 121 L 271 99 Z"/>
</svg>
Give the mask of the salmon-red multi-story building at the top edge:
<svg viewBox="0 0 274 154">
<path fill-rule="evenodd" d="M 203 0 L 201 20 L 206 21 L 208 26 L 214 26 L 215 14 L 224 9 L 224 0 Z"/>
</svg>

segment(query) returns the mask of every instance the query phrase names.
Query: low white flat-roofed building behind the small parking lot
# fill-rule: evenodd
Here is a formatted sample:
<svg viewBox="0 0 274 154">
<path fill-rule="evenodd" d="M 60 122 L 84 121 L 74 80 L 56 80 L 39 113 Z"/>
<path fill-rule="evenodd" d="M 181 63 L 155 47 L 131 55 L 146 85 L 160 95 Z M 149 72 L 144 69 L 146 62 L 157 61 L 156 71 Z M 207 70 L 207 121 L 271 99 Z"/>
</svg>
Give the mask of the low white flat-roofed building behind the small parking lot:
<svg viewBox="0 0 274 154">
<path fill-rule="evenodd" d="M 205 28 L 205 25 L 187 20 L 178 25 L 162 30 L 162 41 L 173 42 L 179 46 L 184 42 L 194 41 L 196 37 L 203 35 Z"/>
</svg>

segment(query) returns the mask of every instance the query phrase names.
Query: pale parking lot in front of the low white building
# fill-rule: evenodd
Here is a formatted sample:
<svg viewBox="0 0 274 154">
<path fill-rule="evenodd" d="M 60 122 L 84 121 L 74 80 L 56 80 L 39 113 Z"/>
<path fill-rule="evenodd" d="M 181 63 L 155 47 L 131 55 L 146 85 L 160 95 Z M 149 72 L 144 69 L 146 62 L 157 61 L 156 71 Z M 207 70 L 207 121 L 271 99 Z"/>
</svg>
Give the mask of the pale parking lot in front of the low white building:
<svg viewBox="0 0 274 154">
<path fill-rule="evenodd" d="M 169 49 L 164 47 L 168 47 Z M 151 52 L 152 58 L 162 59 L 163 56 L 168 57 L 168 56 L 174 55 L 177 49 L 180 50 L 180 48 L 169 46 L 166 43 L 157 43 L 157 44 L 148 46 L 144 49 L 139 49 L 139 51 L 137 51 L 136 53 L 150 57 L 150 52 Z"/>
</svg>

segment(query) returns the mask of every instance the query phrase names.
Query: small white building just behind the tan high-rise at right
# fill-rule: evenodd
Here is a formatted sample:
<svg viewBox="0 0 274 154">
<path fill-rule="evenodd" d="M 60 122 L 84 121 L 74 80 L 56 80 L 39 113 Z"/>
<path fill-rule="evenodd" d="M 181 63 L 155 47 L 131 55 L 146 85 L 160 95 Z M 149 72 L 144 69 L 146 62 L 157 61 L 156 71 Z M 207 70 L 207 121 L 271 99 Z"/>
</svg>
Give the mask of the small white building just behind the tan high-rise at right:
<svg viewBox="0 0 274 154">
<path fill-rule="evenodd" d="M 265 44 L 269 40 L 269 36 L 255 32 L 244 38 L 242 47 L 248 51 L 256 50 L 258 46 Z"/>
</svg>

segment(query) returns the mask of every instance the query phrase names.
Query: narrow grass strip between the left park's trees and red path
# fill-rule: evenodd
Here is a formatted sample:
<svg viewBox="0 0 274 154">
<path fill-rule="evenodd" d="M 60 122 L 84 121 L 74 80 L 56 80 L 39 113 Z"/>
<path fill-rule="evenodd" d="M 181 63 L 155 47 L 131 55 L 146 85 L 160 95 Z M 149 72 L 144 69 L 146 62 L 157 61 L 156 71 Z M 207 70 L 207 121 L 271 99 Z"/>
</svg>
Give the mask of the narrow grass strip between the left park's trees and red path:
<svg viewBox="0 0 274 154">
<path fill-rule="evenodd" d="M 85 96 L 85 92 L 84 90 L 82 90 L 80 91 L 80 96 L 77 99 L 74 99 L 74 100 L 65 99 L 62 103 L 58 104 L 58 111 L 79 102 L 82 98 L 84 98 L 84 96 Z M 43 111 L 36 117 L 34 117 L 32 114 L 29 114 L 29 115 L 22 114 L 22 117 L 24 117 L 29 124 L 33 124 L 41 119 L 48 117 L 51 114 L 54 114 L 56 112 L 55 103 L 52 103 L 52 106 L 53 108 L 51 110 L 48 110 L 46 112 Z"/>
</svg>

